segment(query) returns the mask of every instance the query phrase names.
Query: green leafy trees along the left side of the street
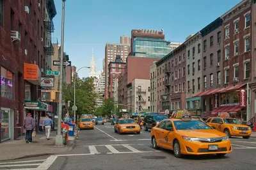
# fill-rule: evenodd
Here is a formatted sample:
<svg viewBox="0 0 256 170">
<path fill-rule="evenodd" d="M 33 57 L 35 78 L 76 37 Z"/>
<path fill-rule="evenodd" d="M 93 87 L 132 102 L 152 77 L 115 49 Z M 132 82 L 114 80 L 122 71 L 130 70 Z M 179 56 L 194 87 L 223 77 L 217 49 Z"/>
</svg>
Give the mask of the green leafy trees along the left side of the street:
<svg viewBox="0 0 256 170">
<path fill-rule="evenodd" d="M 95 87 L 93 84 L 94 79 L 91 77 L 76 79 L 76 106 L 77 115 L 92 114 L 96 109 L 96 98 Z M 70 112 L 74 105 L 74 82 L 67 84 L 63 87 L 63 99 L 67 102 L 70 100 Z"/>
</svg>

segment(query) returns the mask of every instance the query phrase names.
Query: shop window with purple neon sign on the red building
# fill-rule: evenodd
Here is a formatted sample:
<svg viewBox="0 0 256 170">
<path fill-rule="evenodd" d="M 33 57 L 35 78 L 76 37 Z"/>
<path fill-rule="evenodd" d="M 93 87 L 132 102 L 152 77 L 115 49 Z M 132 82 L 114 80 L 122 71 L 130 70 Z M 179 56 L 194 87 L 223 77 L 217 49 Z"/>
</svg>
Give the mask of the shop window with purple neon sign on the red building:
<svg viewBox="0 0 256 170">
<path fill-rule="evenodd" d="M 1 67 L 1 97 L 13 99 L 13 73 Z"/>
</svg>

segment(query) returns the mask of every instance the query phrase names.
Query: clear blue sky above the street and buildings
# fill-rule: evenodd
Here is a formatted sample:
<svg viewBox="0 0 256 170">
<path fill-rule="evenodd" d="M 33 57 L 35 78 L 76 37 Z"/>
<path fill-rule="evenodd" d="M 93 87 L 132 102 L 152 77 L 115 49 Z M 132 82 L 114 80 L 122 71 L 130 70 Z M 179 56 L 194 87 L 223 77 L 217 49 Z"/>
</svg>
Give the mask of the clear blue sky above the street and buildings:
<svg viewBox="0 0 256 170">
<path fill-rule="evenodd" d="M 241 0 L 67 0 L 64 50 L 77 69 L 90 66 L 94 49 L 97 71 L 102 69 L 106 42 L 120 42 L 132 29 L 164 29 L 166 40 L 184 42 Z M 62 1 L 55 0 L 54 38 L 60 43 Z M 79 71 L 88 77 L 89 70 Z"/>
</svg>

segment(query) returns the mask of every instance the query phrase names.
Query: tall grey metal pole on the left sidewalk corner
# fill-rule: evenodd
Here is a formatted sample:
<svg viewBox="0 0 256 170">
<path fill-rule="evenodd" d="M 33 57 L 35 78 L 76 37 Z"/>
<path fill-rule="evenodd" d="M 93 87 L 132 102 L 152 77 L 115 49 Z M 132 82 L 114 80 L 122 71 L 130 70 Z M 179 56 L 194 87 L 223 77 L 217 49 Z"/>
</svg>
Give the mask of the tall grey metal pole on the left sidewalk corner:
<svg viewBox="0 0 256 170">
<path fill-rule="evenodd" d="M 63 54 L 64 54 L 64 24 L 65 24 L 65 1 L 62 0 L 62 20 L 61 20 L 61 51 L 60 51 L 60 94 L 58 109 L 58 132 L 56 135 L 56 146 L 63 146 L 61 135 L 61 117 L 62 117 L 62 78 L 63 78 Z"/>
</svg>

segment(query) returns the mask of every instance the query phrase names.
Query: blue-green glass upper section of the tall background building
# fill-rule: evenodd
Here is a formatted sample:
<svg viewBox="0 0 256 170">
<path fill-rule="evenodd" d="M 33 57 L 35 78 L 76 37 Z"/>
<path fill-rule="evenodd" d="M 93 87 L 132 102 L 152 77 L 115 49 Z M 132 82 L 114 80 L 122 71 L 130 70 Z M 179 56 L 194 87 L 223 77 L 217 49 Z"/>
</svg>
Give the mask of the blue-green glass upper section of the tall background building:
<svg viewBox="0 0 256 170">
<path fill-rule="evenodd" d="M 133 42 L 134 56 L 163 58 L 172 51 L 169 43 L 161 38 L 136 37 Z"/>
</svg>

